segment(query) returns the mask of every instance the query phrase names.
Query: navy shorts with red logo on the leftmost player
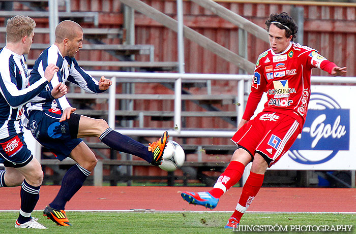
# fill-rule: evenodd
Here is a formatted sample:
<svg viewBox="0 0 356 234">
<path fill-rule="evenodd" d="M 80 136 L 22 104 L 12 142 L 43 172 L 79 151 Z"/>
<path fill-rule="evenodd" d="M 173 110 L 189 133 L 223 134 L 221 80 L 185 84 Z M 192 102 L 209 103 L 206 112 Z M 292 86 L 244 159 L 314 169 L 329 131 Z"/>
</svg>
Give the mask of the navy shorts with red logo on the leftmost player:
<svg viewBox="0 0 356 234">
<path fill-rule="evenodd" d="M 33 156 L 23 140 L 23 133 L 0 140 L 0 163 L 11 168 L 21 168 Z"/>
</svg>

